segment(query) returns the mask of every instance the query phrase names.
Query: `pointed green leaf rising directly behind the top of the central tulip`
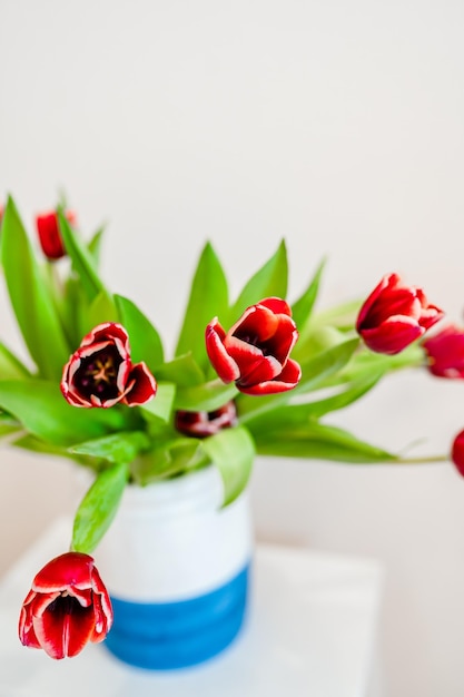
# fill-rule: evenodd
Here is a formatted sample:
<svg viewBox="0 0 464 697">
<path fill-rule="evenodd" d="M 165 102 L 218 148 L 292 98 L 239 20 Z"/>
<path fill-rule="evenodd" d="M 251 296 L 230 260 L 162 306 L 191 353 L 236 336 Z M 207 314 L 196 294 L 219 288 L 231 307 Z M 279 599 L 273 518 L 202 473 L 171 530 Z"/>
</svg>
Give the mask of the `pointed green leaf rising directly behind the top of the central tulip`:
<svg viewBox="0 0 464 697">
<path fill-rule="evenodd" d="M 265 297 L 287 295 L 288 263 L 285 242 L 268 262 L 248 281 L 230 311 L 230 323 L 234 324 L 247 307 L 255 305 Z M 228 327 L 227 327 L 228 328 Z"/>
</svg>

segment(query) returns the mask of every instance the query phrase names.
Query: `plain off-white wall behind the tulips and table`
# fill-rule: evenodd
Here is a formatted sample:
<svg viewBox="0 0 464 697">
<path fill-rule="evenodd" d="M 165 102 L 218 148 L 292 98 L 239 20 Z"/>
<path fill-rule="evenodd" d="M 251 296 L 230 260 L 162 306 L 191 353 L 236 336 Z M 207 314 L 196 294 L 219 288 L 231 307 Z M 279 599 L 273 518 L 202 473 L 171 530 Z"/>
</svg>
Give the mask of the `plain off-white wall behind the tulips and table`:
<svg viewBox="0 0 464 697">
<path fill-rule="evenodd" d="M 397 271 L 458 321 L 463 33 L 460 0 L 0 0 L 0 197 L 31 223 L 63 187 L 83 230 L 108 219 L 105 276 L 170 344 L 206 238 L 235 289 L 285 236 L 292 296 L 328 254 L 324 302 Z M 4 295 L 0 327 L 20 346 Z M 446 452 L 463 404 L 464 385 L 417 374 L 335 421 Z M 6 569 L 69 510 L 70 478 L 66 463 L 1 459 Z M 452 465 L 267 460 L 253 492 L 261 538 L 383 560 L 388 695 L 462 696 Z"/>
</svg>

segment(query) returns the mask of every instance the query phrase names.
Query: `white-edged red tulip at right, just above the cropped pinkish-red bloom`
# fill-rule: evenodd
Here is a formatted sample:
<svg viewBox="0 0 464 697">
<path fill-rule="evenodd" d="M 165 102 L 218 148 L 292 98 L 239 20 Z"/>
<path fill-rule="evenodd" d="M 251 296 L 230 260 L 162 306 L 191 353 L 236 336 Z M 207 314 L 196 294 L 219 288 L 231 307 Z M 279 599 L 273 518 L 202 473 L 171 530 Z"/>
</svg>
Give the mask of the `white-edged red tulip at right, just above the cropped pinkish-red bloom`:
<svg viewBox="0 0 464 697">
<path fill-rule="evenodd" d="M 393 355 L 422 336 L 443 314 L 428 304 L 421 288 L 404 286 L 397 274 L 389 274 L 362 306 L 356 330 L 372 351 Z"/>
</svg>

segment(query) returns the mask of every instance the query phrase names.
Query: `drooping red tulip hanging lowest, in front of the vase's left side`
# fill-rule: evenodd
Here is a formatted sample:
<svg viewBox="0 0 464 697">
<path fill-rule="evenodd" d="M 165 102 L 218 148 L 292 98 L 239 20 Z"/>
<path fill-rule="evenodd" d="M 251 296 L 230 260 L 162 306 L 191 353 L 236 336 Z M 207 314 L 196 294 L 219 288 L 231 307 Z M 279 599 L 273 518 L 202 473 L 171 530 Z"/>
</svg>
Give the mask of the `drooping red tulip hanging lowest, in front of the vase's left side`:
<svg viewBox="0 0 464 697">
<path fill-rule="evenodd" d="M 76 656 L 88 641 L 102 641 L 111 625 L 111 601 L 93 559 L 67 552 L 33 579 L 21 608 L 19 638 L 59 659 Z"/>
</svg>

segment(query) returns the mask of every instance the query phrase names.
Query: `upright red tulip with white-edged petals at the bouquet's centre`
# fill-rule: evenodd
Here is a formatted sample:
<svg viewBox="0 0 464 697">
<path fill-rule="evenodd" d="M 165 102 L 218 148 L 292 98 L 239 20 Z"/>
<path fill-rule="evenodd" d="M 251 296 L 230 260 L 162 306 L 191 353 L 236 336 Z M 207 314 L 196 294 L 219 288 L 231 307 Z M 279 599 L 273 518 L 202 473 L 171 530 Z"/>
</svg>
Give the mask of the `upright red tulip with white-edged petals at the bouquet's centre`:
<svg viewBox="0 0 464 697">
<path fill-rule="evenodd" d="M 228 331 L 217 317 L 206 327 L 206 350 L 219 377 L 246 394 L 274 394 L 298 384 L 302 371 L 288 357 L 298 338 L 287 303 L 267 297 L 248 307 Z"/>
</svg>

